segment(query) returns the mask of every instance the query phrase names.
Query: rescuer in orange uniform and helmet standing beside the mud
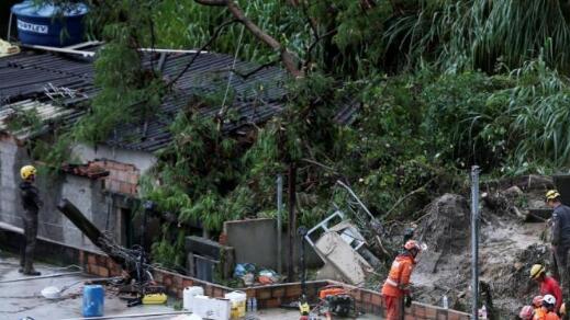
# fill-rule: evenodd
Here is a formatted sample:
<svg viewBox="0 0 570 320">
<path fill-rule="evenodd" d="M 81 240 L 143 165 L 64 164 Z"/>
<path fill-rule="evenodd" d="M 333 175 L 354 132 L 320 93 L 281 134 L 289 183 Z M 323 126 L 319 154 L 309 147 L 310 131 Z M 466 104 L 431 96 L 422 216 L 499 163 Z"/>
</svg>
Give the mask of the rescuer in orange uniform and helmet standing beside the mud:
<svg viewBox="0 0 570 320">
<path fill-rule="evenodd" d="M 388 278 L 382 286 L 382 296 L 385 302 L 385 319 L 404 319 L 404 302 L 406 307 L 412 305 L 410 296 L 410 278 L 415 265 L 415 258 L 422 251 L 422 247 L 415 240 L 407 240 L 404 250 L 400 253 L 390 268 Z"/>
</svg>

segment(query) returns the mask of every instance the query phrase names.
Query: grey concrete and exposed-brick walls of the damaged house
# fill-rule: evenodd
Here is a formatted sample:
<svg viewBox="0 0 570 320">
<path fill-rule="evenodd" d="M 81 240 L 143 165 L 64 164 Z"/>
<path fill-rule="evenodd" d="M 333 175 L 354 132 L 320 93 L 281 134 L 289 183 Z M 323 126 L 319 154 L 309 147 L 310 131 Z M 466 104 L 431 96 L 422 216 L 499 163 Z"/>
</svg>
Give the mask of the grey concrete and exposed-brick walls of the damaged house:
<svg viewBox="0 0 570 320">
<path fill-rule="evenodd" d="M 44 201 L 40 210 L 38 235 L 65 244 L 93 250 L 96 247 L 56 208 L 62 198 L 74 203 L 100 230 L 110 231 L 120 243 L 124 229 L 122 213 L 125 196 L 136 196 L 137 179 L 133 173 L 145 172 L 156 163 L 149 153 L 113 150 L 108 147 L 97 149 L 87 146 L 74 148 L 75 158 L 81 162 L 108 159 L 112 174 L 105 179 L 91 180 L 72 174 L 38 176 L 37 187 Z M 26 148 L 10 136 L 0 137 L 0 221 L 22 227 L 19 184 L 20 168 L 31 163 Z M 126 168 L 130 174 L 121 170 Z M 134 186 L 133 182 L 134 181 Z M 130 187 L 126 187 L 130 186 Z M 120 194 L 122 190 L 128 194 Z M 123 210 L 121 210 L 123 208 Z M 123 243 L 124 244 L 124 243 Z"/>
</svg>

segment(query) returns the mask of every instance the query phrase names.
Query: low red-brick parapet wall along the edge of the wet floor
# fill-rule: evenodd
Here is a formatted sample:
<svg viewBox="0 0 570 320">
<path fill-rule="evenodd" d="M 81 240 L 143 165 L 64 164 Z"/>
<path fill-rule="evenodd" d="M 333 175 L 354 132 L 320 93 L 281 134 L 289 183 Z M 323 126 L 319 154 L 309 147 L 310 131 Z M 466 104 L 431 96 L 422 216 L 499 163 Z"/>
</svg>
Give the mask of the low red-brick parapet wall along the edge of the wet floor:
<svg viewBox="0 0 570 320">
<path fill-rule="evenodd" d="M 19 237 L 13 237 L 13 230 L 0 229 L 0 243 L 3 247 L 10 247 L 13 250 L 18 248 Z M 57 255 L 62 263 L 77 263 L 83 266 L 87 273 L 101 277 L 121 275 L 121 266 L 114 263 L 109 256 L 96 252 L 88 251 L 75 247 L 65 245 L 44 238 L 38 239 L 37 255 L 53 260 Z M 47 256 L 43 256 L 47 254 Z M 226 293 L 236 290 L 208 282 L 203 282 L 190 276 L 180 275 L 165 270 L 154 271 L 155 281 L 159 285 L 164 285 L 167 292 L 178 298 L 182 298 L 185 287 L 202 286 L 204 294 L 211 297 L 223 297 Z M 306 283 L 306 295 L 310 299 L 315 299 L 318 290 L 327 285 L 343 285 L 348 289 L 355 298 L 357 309 L 366 313 L 372 313 L 385 317 L 384 302 L 380 293 L 355 286 L 342 284 L 333 281 L 316 281 Z M 238 289 L 247 294 L 248 297 L 256 297 L 259 308 L 277 308 L 281 304 L 294 301 L 301 295 L 300 283 L 276 284 L 268 286 L 257 286 Z M 468 313 L 456 310 L 438 308 L 436 306 L 413 302 L 411 308 L 406 309 L 405 320 L 468 320 Z"/>
</svg>

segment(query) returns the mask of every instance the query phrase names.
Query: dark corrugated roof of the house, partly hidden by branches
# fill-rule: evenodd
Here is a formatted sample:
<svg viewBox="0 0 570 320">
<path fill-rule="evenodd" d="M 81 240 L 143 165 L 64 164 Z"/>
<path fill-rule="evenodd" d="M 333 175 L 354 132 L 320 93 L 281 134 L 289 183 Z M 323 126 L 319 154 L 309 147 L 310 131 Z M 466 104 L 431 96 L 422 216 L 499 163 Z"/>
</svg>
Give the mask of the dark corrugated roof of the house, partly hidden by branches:
<svg viewBox="0 0 570 320">
<path fill-rule="evenodd" d="M 165 80 L 175 79 L 192 56 L 167 54 L 163 67 Z M 157 66 L 158 60 L 159 55 L 146 54 L 144 65 Z M 287 77 L 284 71 L 267 67 L 244 78 L 239 75 L 248 73 L 258 66 L 238 60 L 236 72 L 231 76 L 232 65 L 231 56 L 200 54 L 175 83 L 172 92 L 165 96 L 157 115 L 141 123 L 118 127 L 107 142 L 149 152 L 165 147 L 171 141 L 170 123 L 189 100 L 195 95 L 223 94 L 228 80 L 230 95 L 234 98 L 228 102 L 232 104 L 230 107 L 238 116 L 237 121 L 224 123 L 225 130 L 266 122 L 282 110 L 281 101 L 286 94 L 283 82 Z M 9 114 L 14 105 L 35 101 L 37 112 L 47 114 L 45 119 L 71 124 L 86 112 L 77 107 L 77 103 L 92 99 L 97 91 L 90 59 L 33 52 L 0 58 L 0 122 L 1 114 Z M 52 103 L 53 100 L 57 103 Z M 56 107 L 56 104 L 59 106 Z M 210 107 L 199 113 L 200 116 L 214 116 L 220 110 L 221 106 Z"/>
</svg>

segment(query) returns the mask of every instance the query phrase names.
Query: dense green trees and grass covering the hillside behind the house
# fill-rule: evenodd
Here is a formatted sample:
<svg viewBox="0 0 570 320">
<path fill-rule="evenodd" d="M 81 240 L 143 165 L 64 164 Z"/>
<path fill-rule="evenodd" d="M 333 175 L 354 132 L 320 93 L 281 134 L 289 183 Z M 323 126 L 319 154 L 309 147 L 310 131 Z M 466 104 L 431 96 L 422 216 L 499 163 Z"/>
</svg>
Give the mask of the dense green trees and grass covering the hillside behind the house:
<svg viewBox="0 0 570 320">
<path fill-rule="evenodd" d="M 331 209 L 337 179 L 390 221 L 413 219 L 435 195 L 461 186 L 474 163 L 490 176 L 570 164 L 568 1 L 237 1 L 278 50 L 235 20 L 234 2 L 204 2 L 92 0 L 91 33 L 108 43 L 97 62 L 102 91 L 66 135 L 97 142 L 132 119 L 133 106 L 145 106 L 136 116 L 153 113 L 168 91 L 142 69 L 136 47 L 209 43 L 259 64 L 293 57 L 292 78 L 301 77 L 289 84 L 288 108 L 252 141 L 192 114 L 172 124 L 179 138 L 143 191 L 181 221 L 219 231 L 226 219 L 275 215 L 276 174 L 291 167 L 300 221 L 311 225 Z M 360 106 L 356 119 L 335 123 L 348 100 Z M 176 249 L 185 232 L 165 226 L 155 256 L 182 264 Z"/>
</svg>

